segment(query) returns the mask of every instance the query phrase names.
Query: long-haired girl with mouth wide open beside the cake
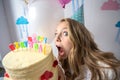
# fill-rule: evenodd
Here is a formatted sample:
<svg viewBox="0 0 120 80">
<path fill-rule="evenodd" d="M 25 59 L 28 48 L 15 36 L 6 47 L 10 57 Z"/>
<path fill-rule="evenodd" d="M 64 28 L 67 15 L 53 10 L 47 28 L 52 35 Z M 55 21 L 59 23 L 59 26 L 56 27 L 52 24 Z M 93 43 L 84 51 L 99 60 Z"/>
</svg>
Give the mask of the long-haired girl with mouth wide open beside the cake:
<svg viewBox="0 0 120 80">
<path fill-rule="evenodd" d="M 62 19 L 55 44 L 66 80 L 120 80 L 120 61 L 101 51 L 83 24 Z"/>
</svg>

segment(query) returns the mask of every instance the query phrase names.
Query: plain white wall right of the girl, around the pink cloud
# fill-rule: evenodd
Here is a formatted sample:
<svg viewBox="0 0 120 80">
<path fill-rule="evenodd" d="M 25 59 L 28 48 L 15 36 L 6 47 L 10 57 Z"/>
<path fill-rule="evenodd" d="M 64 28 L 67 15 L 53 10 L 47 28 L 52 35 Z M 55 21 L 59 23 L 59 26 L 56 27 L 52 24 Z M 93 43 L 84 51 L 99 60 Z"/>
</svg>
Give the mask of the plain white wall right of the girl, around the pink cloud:
<svg viewBox="0 0 120 80">
<path fill-rule="evenodd" d="M 108 0 L 84 0 L 85 26 L 94 35 L 99 48 L 104 51 L 114 52 L 120 59 L 120 44 L 115 41 L 118 28 L 115 24 L 120 21 L 120 9 L 101 10 L 101 6 Z M 69 3 L 65 9 L 65 17 L 71 17 L 72 6 Z"/>
</svg>

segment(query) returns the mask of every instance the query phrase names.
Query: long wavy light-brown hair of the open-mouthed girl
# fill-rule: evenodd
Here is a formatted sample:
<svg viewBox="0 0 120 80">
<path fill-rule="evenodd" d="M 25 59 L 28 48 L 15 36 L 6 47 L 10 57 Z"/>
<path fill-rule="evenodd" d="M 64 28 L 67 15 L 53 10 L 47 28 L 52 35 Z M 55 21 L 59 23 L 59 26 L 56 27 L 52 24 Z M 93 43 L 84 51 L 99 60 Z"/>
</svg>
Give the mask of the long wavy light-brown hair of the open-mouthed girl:
<svg viewBox="0 0 120 80">
<path fill-rule="evenodd" d="M 83 80 L 85 76 L 83 66 L 87 66 L 90 70 L 91 80 L 109 80 L 108 75 L 101 70 L 104 68 L 111 69 L 115 73 L 112 80 L 119 80 L 120 74 L 117 69 L 120 67 L 120 61 L 111 52 L 100 50 L 91 33 L 82 23 L 70 18 L 62 19 L 60 22 L 68 24 L 69 38 L 73 44 L 68 57 L 64 60 L 60 59 L 67 80 L 74 80 L 79 75 L 81 75 L 79 80 Z M 102 66 L 98 62 L 109 67 Z"/>
</svg>

